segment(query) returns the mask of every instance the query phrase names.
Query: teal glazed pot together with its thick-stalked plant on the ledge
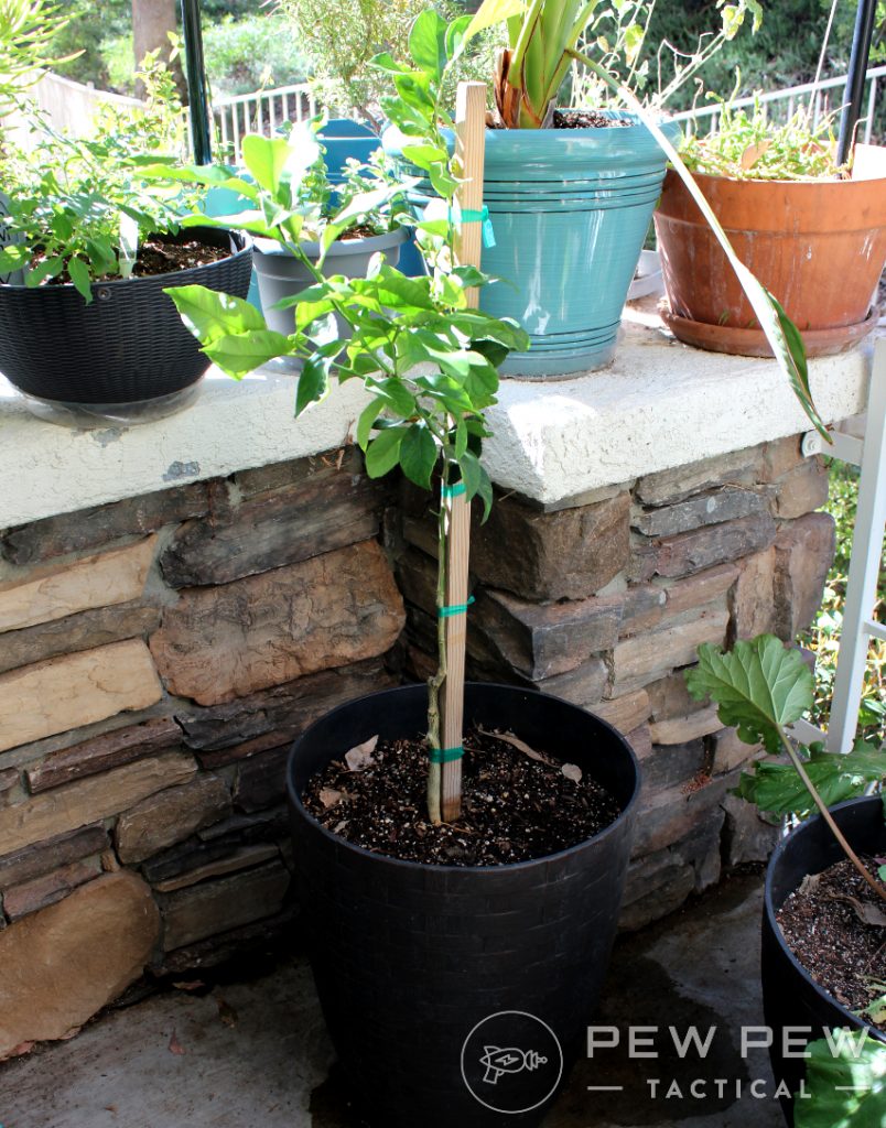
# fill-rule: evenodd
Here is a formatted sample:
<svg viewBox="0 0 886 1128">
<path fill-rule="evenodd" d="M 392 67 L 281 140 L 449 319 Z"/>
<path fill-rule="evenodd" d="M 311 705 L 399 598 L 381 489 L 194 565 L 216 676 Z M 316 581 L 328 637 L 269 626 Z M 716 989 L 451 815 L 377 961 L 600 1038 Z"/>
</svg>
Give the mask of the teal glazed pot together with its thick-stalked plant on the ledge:
<svg viewBox="0 0 886 1128">
<path fill-rule="evenodd" d="M 742 26 L 758 19 L 755 2 L 722 7 L 717 35 L 677 67 L 676 79 L 643 113 L 631 90 L 648 81 L 642 61 L 651 7 L 643 2 L 599 8 L 584 0 L 485 0 L 453 37 L 473 38 L 507 20 L 508 46 L 493 77 L 495 108 L 486 138 L 484 201 L 494 227 L 485 264 L 505 280 L 483 292 L 483 308 L 515 318 L 529 334 L 529 353 L 512 354 L 508 374 L 565 376 L 607 363 L 615 350 L 622 307 L 660 194 L 676 124 L 661 122 L 661 105 Z M 412 47 L 412 44 L 410 44 Z M 428 60 L 412 50 L 412 65 L 381 56 L 397 97 L 383 106 L 397 127 L 386 149 L 406 168 L 427 169 L 416 156 L 411 114 L 427 96 L 414 74 Z M 580 105 L 559 109 L 573 65 L 595 82 L 573 78 Z M 593 98 L 593 103 L 585 100 Z M 576 97 L 573 97 L 573 106 Z M 660 129 L 649 129 L 650 121 Z M 664 134 L 663 134 L 664 131 Z M 413 200 L 421 206 L 432 177 Z"/>
</svg>

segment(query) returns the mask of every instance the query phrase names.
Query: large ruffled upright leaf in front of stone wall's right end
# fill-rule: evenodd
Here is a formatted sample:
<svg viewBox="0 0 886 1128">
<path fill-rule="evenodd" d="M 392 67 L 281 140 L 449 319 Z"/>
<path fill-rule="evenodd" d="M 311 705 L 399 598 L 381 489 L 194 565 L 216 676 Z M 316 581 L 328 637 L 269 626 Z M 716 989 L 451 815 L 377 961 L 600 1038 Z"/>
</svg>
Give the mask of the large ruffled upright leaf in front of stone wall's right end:
<svg viewBox="0 0 886 1128">
<path fill-rule="evenodd" d="M 812 707 L 815 679 L 798 651 L 787 650 L 774 635 L 761 635 L 737 642 L 727 653 L 702 644 L 686 686 L 696 700 L 717 702 L 720 721 L 735 725 L 745 743 L 762 741 L 767 751 L 778 752 L 779 730 Z"/>
</svg>

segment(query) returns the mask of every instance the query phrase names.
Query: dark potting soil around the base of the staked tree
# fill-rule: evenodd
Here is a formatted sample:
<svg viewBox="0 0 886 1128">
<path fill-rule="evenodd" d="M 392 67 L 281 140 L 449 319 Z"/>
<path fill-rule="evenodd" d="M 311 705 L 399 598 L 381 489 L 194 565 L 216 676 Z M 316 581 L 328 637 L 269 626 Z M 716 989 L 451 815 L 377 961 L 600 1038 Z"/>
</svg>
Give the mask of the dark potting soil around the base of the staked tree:
<svg viewBox="0 0 886 1128">
<path fill-rule="evenodd" d="M 525 747 L 525 746 L 524 746 Z M 585 841 L 620 814 L 587 774 L 495 734 L 465 739 L 462 818 L 435 827 L 427 812 L 428 749 L 421 739 L 379 744 L 366 767 L 333 760 L 314 776 L 305 805 L 327 829 L 377 854 L 433 865 L 505 865 Z M 367 754 L 368 755 L 368 754 Z M 358 755 L 358 759 L 366 756 Z"/>
</svg>

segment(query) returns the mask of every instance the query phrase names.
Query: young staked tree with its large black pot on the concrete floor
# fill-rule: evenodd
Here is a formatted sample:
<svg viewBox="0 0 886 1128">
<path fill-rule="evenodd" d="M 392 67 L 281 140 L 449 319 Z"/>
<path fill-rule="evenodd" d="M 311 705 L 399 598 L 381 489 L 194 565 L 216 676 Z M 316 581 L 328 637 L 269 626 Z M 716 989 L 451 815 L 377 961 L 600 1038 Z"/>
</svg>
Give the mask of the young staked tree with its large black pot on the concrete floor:
<svg viewBox="0 0 886 1128">
<path fill-rule="evenodd" d="M 438 34 L 436 21 L 416 28 Z M 482 125 L 482 88 L 475 108 Z M 429 136 L 438 136 L 438 121 L 430 106 Z M 272 160 L 278 142 L 263 140 Z M 257 161 L 261 142 L 251 148 Z M 456 206 L 458 187 L 448 158 L 446 168 L 442 217 Z M 295 193 L 293 179 L 308 169 L 290 164 L 287 173 Z M 463 219 L 470 202 L 462 196 Z M 351 201 L 332 220 L 326 245 L 365 208 L 365 200 Z M 333 379 L 362 378 L 371 402 L 357 440 L 367 473 L 398 467 L 440 490 L 437 677 L 345 705 L 292 749 L 288 786 L 301 904 L 330 1031 L 374 1123 L 491 1125 L 503 1107 L 518 1113 L 515 1122 L 530 1125 L 580 1051 L 600 989 L 638 767 L 619 733 L 565 702 L 514 687 L 463 688 L 455 640 L 464 636 L 467 613 L 459 579 L 466 582 L 470 503 L 492 500 L 479 458 L 483 413 L 495 400 L 498 364 L 527 342 L 512 323 L 474 308 L 473 291 L 486 277 L 465 261 L 472 256 L 464 232 L 442 218 L 426 233 L 432 274 L 421 279 L 378 258 L 366 279 L 326 277 L 323 263 L 293 239 L 293 255 L 316 281 L 290 301 L 295 329 L 286 336 L 244 302 L 195 287 L 170 296 L 207 354 L 234 376 L 260 356 L 297 355 L 297 412 Z M 336 318 L 346 323 L 346 337 Z M 460 653 L 463 663 L 463 645 Z M 463 723 L 454 716 L 459 712 Z M 502 730 L 516 735 L 500 740 L 494 733 Z M 328 783 L 342 775 L 349 792 L 358 784 L 394 786 L 381 805 L 394 802 L 398 827 L 409 826 L 405 854 L 396 856 L 376 804 L 344 813 L 350 797 Z M 527 796 L 519 803 L 517 781 Z M 572 814 L 554 829 L 561 801 Z M 570 827 L 579 808 L 595 813 Z M 346 823 L 370 835 L 380 829 L 386 848 L 349 841 Z M 468 838 L 474 843 L 465 848 Z M 427 851 L 414 853 L 421 840 Z M 521 1046 L 529 1057 L 520 1060 L 530 1065 L 517 1072 L 507 1054 L 484 1064 L 493 1046 Z"/>
</svg>

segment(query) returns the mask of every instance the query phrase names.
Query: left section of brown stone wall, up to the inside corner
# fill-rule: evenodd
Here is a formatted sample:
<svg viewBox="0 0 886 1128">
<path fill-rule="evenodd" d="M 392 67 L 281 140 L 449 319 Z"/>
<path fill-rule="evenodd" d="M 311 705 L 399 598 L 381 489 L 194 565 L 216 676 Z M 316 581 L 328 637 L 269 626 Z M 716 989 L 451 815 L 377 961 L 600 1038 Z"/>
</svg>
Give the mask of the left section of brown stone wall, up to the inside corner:
<svg viewBox="0 0 886 1128">
<path fill-rule="evenodd" d="M 0 1057 L 293 915 L 283 763 L 393 684 L 353 448 L 0 534 Z"/>
</svg>

